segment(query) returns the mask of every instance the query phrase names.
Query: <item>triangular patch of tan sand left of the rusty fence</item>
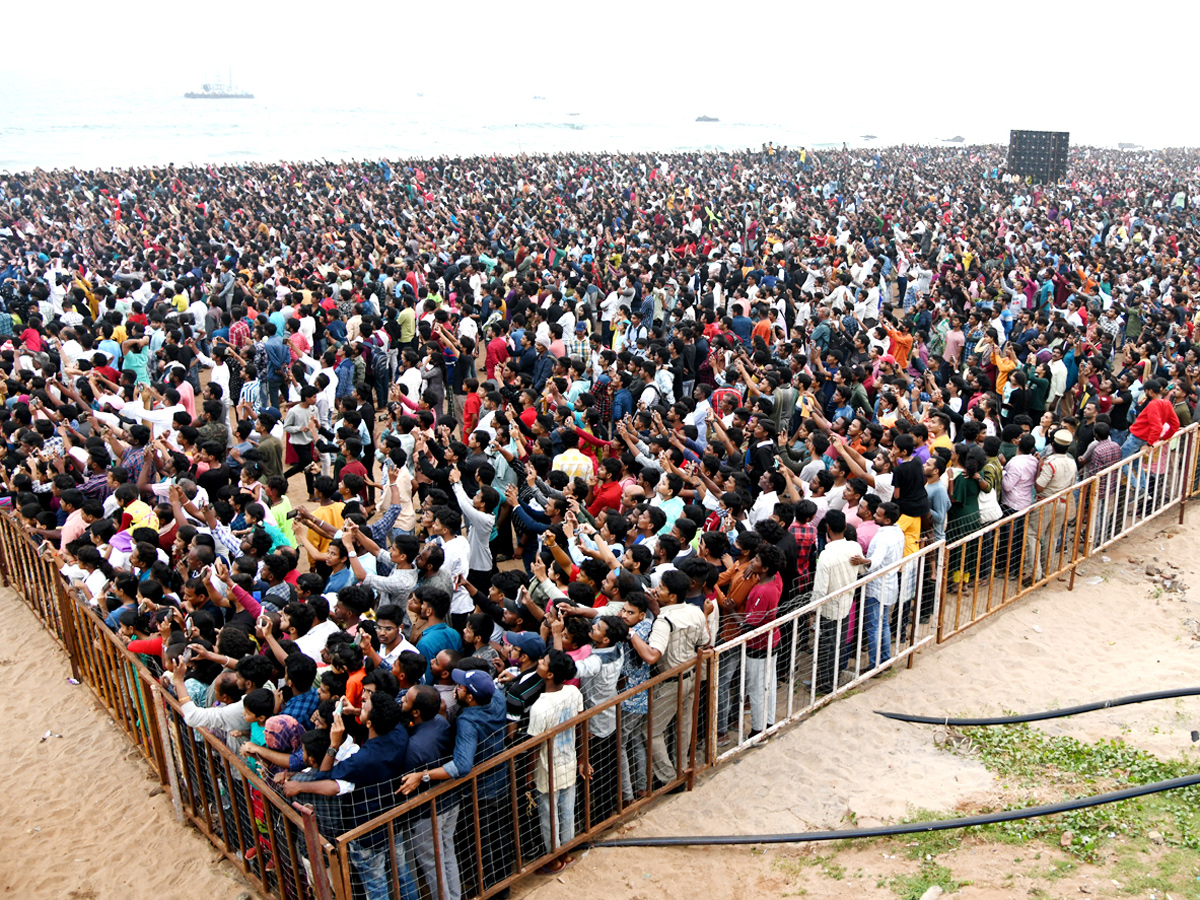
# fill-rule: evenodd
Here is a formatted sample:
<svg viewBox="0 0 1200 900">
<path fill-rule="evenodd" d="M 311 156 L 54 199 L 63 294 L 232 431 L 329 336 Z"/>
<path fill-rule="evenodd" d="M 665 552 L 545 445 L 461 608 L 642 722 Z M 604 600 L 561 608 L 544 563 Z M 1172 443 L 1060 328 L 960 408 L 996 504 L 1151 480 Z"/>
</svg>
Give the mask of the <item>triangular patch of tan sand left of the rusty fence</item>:
<svg viewBox="0 0 1200 900">
<path fill-rule="evenodd" d="M 29 607 L 0 592 L 4 895 L 234 900 L 247 889 L 240 875 L 199 832 L 175 822 L 138 750 L 70 677 L 66 655 Z"/>
</svg>

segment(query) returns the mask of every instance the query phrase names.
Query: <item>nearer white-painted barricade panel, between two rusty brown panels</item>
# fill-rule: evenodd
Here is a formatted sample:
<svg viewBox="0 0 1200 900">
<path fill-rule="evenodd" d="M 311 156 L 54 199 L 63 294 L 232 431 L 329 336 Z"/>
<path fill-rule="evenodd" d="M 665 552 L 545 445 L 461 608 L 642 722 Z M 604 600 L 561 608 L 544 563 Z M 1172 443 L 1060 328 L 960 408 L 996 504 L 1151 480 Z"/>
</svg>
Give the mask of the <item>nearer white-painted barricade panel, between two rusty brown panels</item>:
<svg viewBox="0 0 1200 900">
<path fill-rule="evenodd" d="M 740 752 L 932 642 L 944 557 L 944 541 L 929 545 L 716 647 L 708 703 L 713 761 Z"/>
</svg>

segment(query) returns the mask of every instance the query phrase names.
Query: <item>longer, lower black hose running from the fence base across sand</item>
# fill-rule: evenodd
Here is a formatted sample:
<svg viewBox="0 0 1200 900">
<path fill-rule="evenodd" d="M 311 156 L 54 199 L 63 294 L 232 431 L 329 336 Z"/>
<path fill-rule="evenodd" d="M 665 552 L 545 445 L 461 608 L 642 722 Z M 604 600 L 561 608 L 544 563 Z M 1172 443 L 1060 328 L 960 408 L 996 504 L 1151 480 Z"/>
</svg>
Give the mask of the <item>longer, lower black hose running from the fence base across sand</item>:
<svg viewBox="0 0 1200 900">
<path fill-rule="evenodd" d="M 906 824 L 880 826 L 878 828 L 852 828 L 841 832 L 794 832 L 791 834 L 718 834 L 692 835 L 682 838 L 620 838 L 612 841 L 594 844 L 594 847 L 686 847 L 686 846 L 734 846 L 745 844 L 810 844 L 814 841 L 836 841 L 847 838 L 890 838 L 898 834 L 925 834 L 928 832 L 949 832 L 955 828 L 995 824 L 996 822 L 1015 822 L 1022 818 L 1052 816 L 1058 812 L 1070 812 L 1088 806 L 1100 806 L 1105 803 L 1117 803 L 1134 797 L 1175 791 L 1181 787 L 1200 785 L 1200 775 L 1172 778 L 1169 781 L 1156 781 L 1151 785 L 1138 785 L 1123 791 L 1080 797 L 1075 800 L 1063 800 L 1044 806 L 989 812 L 966 818 L 938 818 L 932 822 L 910 822 Z"/>
</svg>

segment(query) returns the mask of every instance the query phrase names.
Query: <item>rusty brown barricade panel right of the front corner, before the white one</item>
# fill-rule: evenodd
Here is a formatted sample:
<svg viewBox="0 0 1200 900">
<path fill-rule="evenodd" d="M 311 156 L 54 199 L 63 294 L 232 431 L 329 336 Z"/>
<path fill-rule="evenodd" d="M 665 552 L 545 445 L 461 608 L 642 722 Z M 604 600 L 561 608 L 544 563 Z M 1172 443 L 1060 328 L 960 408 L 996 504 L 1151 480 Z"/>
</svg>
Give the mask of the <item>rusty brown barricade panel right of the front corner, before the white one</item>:
<svg viewBox="0 0 1200 900">
<path fill-rule="evenodd" d="M 697 728 L 709 654 L 479 761 L 406 799 L 402 779 L 359 788 L 326 809 L 344 822 L 335 883 L 352 896 L 487 898 L 593 840 L 665 793 L 690 787 L 707 748 Z M 646 712 L 632 712 L 643 700 Z M 600 733 L 602 732 L 602 733 Z M 306 794 L 300 794 L 304 799 Z"/>
</svg>

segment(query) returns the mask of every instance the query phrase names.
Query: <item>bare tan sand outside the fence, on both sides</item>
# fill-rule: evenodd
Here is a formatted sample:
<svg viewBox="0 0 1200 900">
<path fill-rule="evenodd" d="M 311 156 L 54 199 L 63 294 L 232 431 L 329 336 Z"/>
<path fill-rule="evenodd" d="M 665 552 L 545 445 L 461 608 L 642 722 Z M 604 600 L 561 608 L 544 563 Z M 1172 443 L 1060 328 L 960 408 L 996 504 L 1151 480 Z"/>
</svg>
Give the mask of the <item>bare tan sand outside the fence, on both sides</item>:
<svg viewBox="0 0 1200 900">
<path fill-rule="evenodd" d="M 1037 791 L 1013 797 L 982 763 L 938 746 L 944 730 L 894 722 L 872 713 L 924 714 L 1032 712 L 1138 691 L 1200 683 L 1200 608 L 1187 593 L 1160 593 L 1147 564 L 1180 566 L 1200 586 L 1200 535 L 1190 512 L 1183 528 L 1164 517 L 1132 540 L 1080 568 L 1074 592 L 1055 582 L 1015 608 L 950 643 L 925 650 L 911 671 L 877 679 L 858 694 L 718 769 L 690 794 L 668 798 L 622 828 L 624 834 L 755 834 L 846 828 L 899 820 L 916 809 L 961 812 L 998 802 L 1033 804 Z M 1153 557 L 1158 557 L 1154 562 Z M 1136 562 L 1132 562 L 1136 560 Z M 1105 578 L 1099 583 L 1090 583 Z M 1198 595 L 1200 598 L 1200 595 Z M 194 830 L 175 823 L 169 798 L 150 769 L 70 670 L 32 614 L 10 592 L 0 596 L 0 671 L 10 739 L 2 756 L 14 785 L 36 802 L 7 792 L 0 817 L 6 847 L 0 883 L 10 896 L 133 900 L 228 898 L 247 890 L 233 868 Z M 36 694 L 31 690 L 37 685 Z M 1200 758 L 1189 732 L 1200 724 L 1200 700 L 1123 707 L 1043 724 L 1048 733 L 1084 740 L 1123 737 L 1163 758 Z M 61 738 L 41 737 L 46 731 Z M 80 810 L 86 810 L 80 814 Z M 35 830 L 40 829 L 40 830 Z M 556 878 L 534 877 L 516 896 L 576 900 L 710 900 L 780 896 L 893 898 L 880 878 L 917 864 L 866 845 L 839 853 L 839 878 L 812 865 L 828 847 L 592 850 Z M 892 856 L 889 859 L 888 857 Z M 1063 854 L 1057 854 L 1062 857 Z M 1045 866 L 1056 854 L 1045 851 Z M 823 859 L 824 857 L 822 857 Z M 948 865 L 973 881 L 964 898 L 1018 895 L 1014 866 L 1028 860 L 1013 847 L 972 846 Z M 53 860 L 53 862 L 52 862 Z M 799 862 L 798 862 L 799 860 Z M 1079 883 L 1097 875 L 1082 866 Z M 800 875 L 797 875 L 800 872 Z M 854 880 L 859 875 L 859 880 Z M 1018 878 L 1025 877 L 1018 875 Z M 989 884 L 995 883 L 995 887 Z M 1069 878 L 1057 882 L 1073 884 Z M 799 887 L 798 887 L 799 886 Z M 1111 884 L 1109 890 L 1116 892 Z M 1099 888 L 1097 888 L 1099 892 Z M 1024 895 L 1026 892 L 1019 892 Z M 1068 893 L 1075 893 L 1070 887 Z"/>
</svg>

